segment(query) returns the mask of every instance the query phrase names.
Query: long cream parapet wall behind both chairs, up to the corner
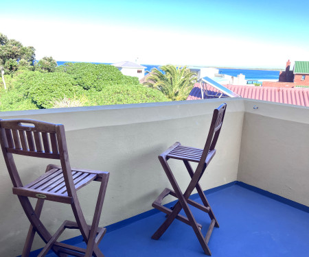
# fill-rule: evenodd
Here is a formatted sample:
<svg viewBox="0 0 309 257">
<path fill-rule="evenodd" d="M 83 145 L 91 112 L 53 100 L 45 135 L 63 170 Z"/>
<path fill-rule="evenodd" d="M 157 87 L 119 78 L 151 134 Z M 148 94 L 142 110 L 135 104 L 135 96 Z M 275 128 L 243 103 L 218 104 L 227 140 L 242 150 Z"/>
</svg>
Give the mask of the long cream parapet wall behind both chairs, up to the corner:
<svg viewBox="0 0 309 257">
<path fill-rule="evenodd" d="M 201 180 L 204 190 L 237 179 L 244 103 L 238 99 L 224 100 L 228 103 L 227 114 L 218 140 L 218 154 Z M 2 112 L 0 119 L 38 119 L 65 125 L 71 166 L 111 173 L 100 221 L 105 226 L 152 209 L 152 201 L 165 187 L 170 187 L 157 156 L 176 141 L 203 147 L 212 112 L 222 102 L 214 99 Z M 25 156 L 15 159 L 24 184 L 42 174 L 47 164 L 58 163 Z M 170 164 L 184 189 L 190 176 L 183 163 L 170 160 Z M 0 176 L 0 256 L 18 256 L 30 224 L 18 198 L 12 195 L 12 182 L 2 155 Z M 93 182 L 78 191 L 89 223 L 98 186 Z M 63 220 L 74 220 L 70 206 L 50 201 L 46 202 L 42 217 L 52 234 Z M 60 239 L 78 235 L 71 231 Z M 33 249 L 43 245 L 36 239 Z"/>
</svg>

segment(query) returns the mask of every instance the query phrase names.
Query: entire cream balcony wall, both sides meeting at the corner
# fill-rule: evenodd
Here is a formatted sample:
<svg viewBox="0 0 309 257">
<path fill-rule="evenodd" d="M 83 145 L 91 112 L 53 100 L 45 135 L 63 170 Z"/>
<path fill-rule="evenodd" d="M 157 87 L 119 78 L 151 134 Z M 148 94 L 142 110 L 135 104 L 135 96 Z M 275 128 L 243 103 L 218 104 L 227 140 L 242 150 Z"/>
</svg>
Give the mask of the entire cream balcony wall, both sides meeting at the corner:
<svg viewBox="0 0 309 257">
<path fill-rule="evenodd" d="M 109 225 L 152 209 L 152 201 L 170 184 L 157 156 L 176 141 L 203 147 L 214 108 L 222 99 L 2 112 L 1 119 L 28 118 L 65 124 L 72 167 L 110 171 L 100 225 Z M 227 114 L 218 154 L 201 180 L 203 189 L 240 180 L 309 205 L 309 108 L 244 99 L 224 99 Z M 253 109 L 253 106 L 258 108 Z M 26 184 L 54 160 L 16 156 Z M 181 162 L 170 160 L 181 188 L 190 178 Z M 57 164 L 57 162 L 56 162 Z M 0 156 L 0 256 L 21 254 L 29 222 Z M 78 195 L 91 223 L 98 183 Z M 169 200 L 169 199 L 168 199 Z M 172 200 L 172 199 L 170 199 Z M 69 206 L 47 202 L 43 223 L 56 232 Z M 67 232 L 64 238 L 76 236 Z M 36 240 L 33 249 L 43 247 Z"/>
</svg>

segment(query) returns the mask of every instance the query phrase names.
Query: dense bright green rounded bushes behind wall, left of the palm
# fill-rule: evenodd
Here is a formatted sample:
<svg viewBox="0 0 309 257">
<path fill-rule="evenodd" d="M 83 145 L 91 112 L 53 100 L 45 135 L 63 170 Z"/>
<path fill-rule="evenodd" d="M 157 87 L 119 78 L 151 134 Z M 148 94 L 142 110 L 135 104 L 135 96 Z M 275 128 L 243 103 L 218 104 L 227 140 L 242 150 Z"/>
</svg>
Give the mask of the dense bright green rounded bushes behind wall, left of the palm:
<svg viewBox="0 0 309 257">
<path fill-rule="evenodd" d="M 0 82 L 0 111 L 169 101 L 115 66 L 66 63 L 54 72 L 20 69 Z"/>
</svg>

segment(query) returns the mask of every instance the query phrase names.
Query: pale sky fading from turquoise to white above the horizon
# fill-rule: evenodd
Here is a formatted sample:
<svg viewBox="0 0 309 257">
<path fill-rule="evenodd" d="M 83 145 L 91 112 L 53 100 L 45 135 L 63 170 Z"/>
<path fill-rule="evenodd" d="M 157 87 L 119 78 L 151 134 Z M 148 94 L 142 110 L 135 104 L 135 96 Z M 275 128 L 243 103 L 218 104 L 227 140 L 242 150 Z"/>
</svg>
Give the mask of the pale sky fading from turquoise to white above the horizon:
<svg viewBox="0 0 309 257">
<path fill-rule="evenodd" d="M 284 69 L 309 61 L 309 1 L 0 0 L 36 59 Z"/>
</svg>

